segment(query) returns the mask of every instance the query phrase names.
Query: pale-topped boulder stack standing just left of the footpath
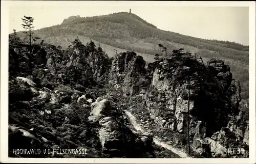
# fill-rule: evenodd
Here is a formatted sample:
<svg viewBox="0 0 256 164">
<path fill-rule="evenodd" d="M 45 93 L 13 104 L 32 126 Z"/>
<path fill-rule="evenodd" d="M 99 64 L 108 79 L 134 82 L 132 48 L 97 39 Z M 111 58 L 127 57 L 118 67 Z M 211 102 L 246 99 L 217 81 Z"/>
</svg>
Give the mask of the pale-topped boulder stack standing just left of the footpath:
<svg viewBox="0 0 256 164">
<path fill-rule="evenodd" d="M 89 121 L 100 125 L 98 133 L 102 150 L 111 156 L 129 156 L 152 147 L 152 135 L 130 130 L 124 124 L 122 111 L 104 97 L 91 104 Z"/>
</svg>

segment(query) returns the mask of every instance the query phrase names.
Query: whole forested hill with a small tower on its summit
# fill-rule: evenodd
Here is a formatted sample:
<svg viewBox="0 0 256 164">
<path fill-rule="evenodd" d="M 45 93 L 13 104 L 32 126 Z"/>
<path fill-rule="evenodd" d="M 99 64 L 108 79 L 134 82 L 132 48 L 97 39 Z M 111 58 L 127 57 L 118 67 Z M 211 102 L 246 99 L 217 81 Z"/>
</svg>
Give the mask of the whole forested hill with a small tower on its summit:
<svg viewBox="0 0 256 164">
<path fill-rule="evenodd" d="M 17 35 L 20 38 L 23 36 L 21 32 Z M 163 31 L 132 13 L 119 12 L 93 17 L 71 16 L 59 25 L 35 31 L 34 35 L 63 48 L 70 45 L 74 38 L 79 38 L 83 44 L 92 38 L 101 45 L 111 45 L 142 54 L 164 55 L 158 43 L 167 48 L 167 54 L 173 49 L 184 48 L 185 51 L 197 53 L 198 57 L 224 60 L 233 70 L 234 77 L 241 81 L 242 88 L 248 90 L 248 46 Z M 104 50 L 103 46 L 102 49 Z M 243 94 L 243 97 L 248 98 L 247 91 Z"/>
</svg>

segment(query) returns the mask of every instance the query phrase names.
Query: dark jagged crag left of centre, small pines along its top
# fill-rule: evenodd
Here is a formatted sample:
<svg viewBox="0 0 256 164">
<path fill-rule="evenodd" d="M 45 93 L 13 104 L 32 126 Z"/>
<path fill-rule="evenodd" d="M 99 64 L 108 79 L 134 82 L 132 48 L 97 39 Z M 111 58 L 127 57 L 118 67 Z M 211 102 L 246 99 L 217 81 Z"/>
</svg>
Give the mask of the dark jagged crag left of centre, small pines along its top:
<svg viewBox="0 0 256 164">
<path fill-rule="evenodd" d="M 84 87 L 104 84 L 108 79 L 111 60 L 103 52 L 80 52 L 77 49 L 67 60 L 67 74 L 70 79 Z"/>
</svg>

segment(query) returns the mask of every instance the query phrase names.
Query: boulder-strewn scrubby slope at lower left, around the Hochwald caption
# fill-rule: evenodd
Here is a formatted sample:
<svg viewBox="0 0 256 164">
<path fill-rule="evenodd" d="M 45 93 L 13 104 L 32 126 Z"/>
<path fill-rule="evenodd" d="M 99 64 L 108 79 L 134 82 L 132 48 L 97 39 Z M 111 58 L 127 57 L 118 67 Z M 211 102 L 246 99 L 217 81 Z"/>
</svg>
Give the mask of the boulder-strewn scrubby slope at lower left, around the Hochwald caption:
<svg viewBox="0 0 256 164">
<path fill-rule="evenodd" d="M 40 72 L 42 75 L 40 75 Z M 40 151 L 54 148 L 88 149 L 88 157 L 99 157 L 100 141 L 97 139 L 94 128 L 81 121 L 87 120 L 89 106 L 77 106 L 76 100 L 71 97 L 78 93 L 71 87 L 59 84 L 54 85 L 54 78 L 44 69 L 34 70 L 36 78 L 41 81 L 18 76 L 9 81 L 9 156 L 10 157 L 74 157 L 72 154 L 15 154 L 14 149 L 40 149 Z M 57 76 L 57 75 L 52 75 Z M 46 79 L 49 77 L 48 79 Z M 48 81 L 53 84 L 50 90 L 41 87 L 41 83 Z M 57 92 L 54 92 L 58 90 Z M 90 97 L 90 96 L 88 96 Z M 91 97 L 92 94 L 91 94 Z M 88 102 L 89 103 L 89 102 Z M 80 110 L 77 110 L 77 108 Z M 86 130 L 86 131 L 84 131 Z M 81 142 L 86 143 L 86 147 Z M 94 150 L 90 150 L 91 147 Z M 75 155 L 84 157 L 84 155 Z"/>
</svg>

